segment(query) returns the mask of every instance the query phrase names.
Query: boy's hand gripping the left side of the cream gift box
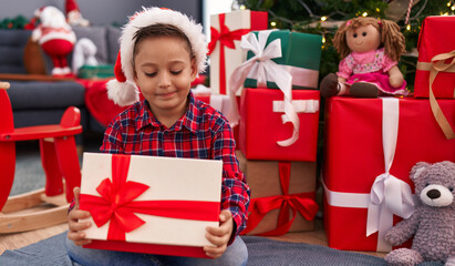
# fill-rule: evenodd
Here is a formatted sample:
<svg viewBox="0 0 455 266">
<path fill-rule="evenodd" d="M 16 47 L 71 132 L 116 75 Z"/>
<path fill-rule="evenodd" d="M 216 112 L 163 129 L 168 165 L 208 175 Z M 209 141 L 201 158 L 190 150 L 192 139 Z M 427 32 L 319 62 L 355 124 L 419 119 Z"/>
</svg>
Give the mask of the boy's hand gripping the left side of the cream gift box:
<svg viewBox="0 0 455 266">
<path fill-rule="evenodd" d="M 90 244 L 92 241 L 85 238 L 85 233 L 80 232 L 89 228 L 91 226 L 90 222 L 79 222 L 82 218 L 89 218 L 90 212 L 79 209 L 79 196 L 81 188 L 74 187 L 74 198 L 75 205 L 74 208 L 68 214 L 68 238 L 73 241 L 75 245 L 82 246 Z"/>
</svg>

